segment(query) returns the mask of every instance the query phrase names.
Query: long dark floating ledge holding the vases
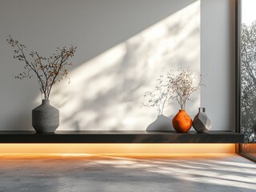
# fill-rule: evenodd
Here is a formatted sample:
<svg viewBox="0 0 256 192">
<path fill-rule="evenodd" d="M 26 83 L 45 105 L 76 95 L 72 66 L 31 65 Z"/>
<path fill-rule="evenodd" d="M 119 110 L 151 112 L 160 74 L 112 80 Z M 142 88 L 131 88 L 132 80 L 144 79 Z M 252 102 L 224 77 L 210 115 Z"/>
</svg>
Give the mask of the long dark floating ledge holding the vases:
<svg viewBox="0 0 256 192">
<path fill-rule="evenodd" d="M 108 130 L 71 131 L 57 130 L 52 134 L 35 131 L 0 131 L 0 143 L 242 143 L 244 135 L 232 131 L 210 131 L 197 134 L 189 131 Z"/>
</svg>

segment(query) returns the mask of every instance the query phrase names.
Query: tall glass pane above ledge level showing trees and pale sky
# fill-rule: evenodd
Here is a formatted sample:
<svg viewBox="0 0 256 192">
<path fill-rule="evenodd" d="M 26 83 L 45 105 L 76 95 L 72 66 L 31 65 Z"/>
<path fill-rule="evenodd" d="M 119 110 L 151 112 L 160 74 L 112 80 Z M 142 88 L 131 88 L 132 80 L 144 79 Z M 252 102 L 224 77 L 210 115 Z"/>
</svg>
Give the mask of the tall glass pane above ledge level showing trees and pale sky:
<svg viewBox="0 0 256 192">
<path fill-rule="evenodd" d="M 241 131 L 245 142 L 256 142 L 256 1 L 241 7 Z"/>
</svg>

